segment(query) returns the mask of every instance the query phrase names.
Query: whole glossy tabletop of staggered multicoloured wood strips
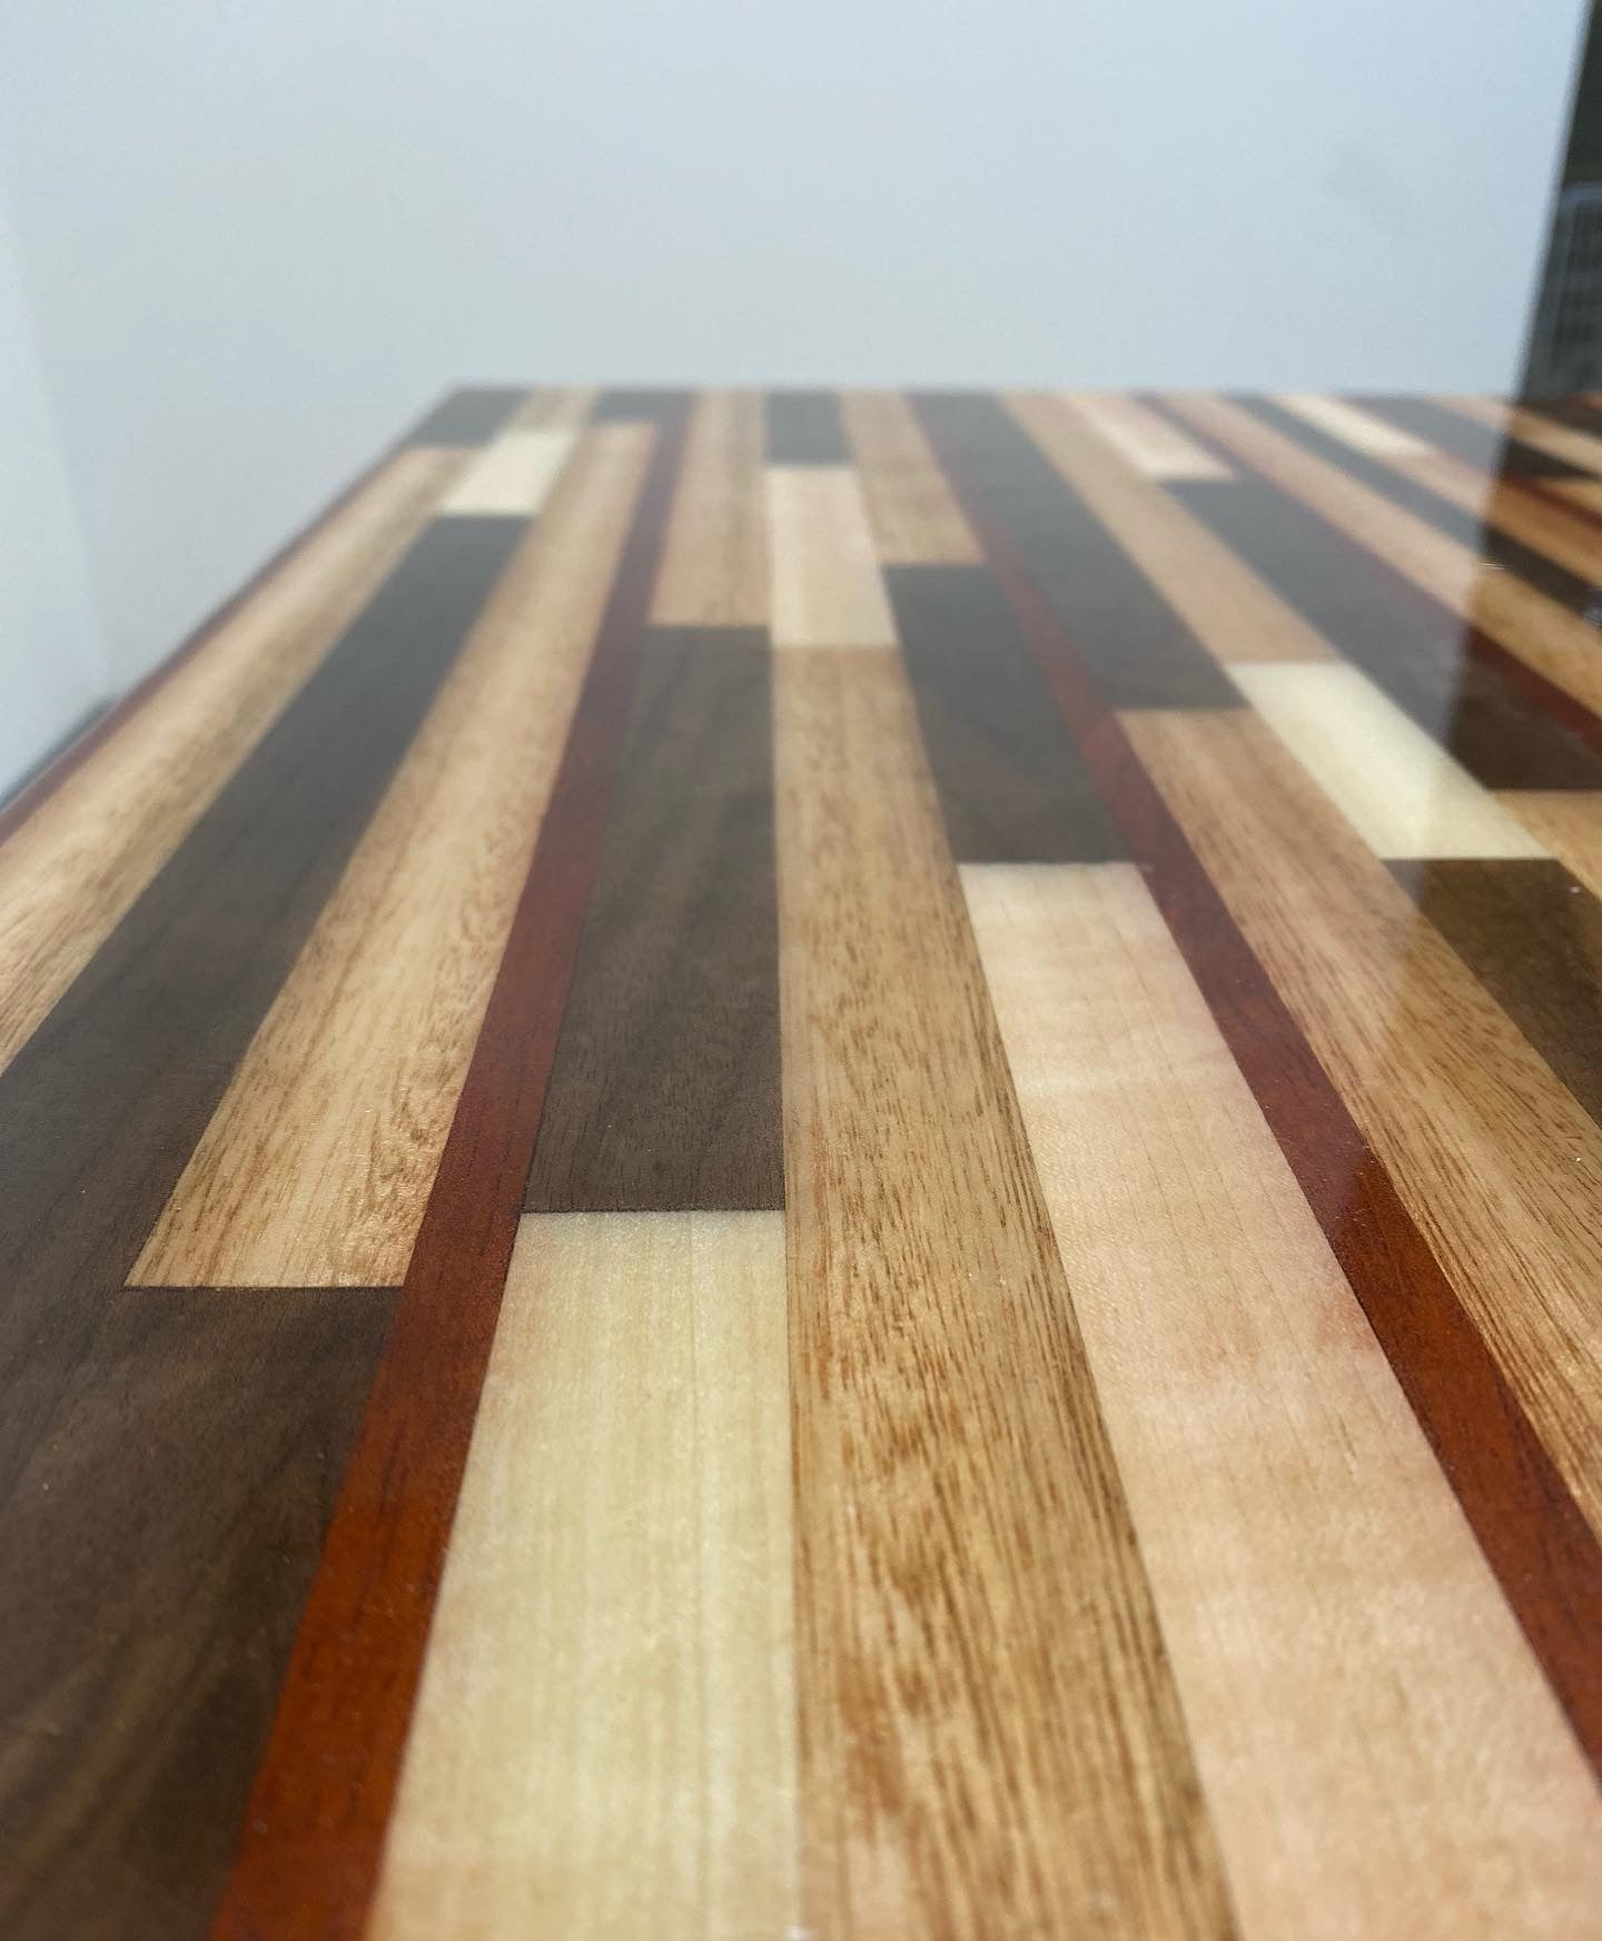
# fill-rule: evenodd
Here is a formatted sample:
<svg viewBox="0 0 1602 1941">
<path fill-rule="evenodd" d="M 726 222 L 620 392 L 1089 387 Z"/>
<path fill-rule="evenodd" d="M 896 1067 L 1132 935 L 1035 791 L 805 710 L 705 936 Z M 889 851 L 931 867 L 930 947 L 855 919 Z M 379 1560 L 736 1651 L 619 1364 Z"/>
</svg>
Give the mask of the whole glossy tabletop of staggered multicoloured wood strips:
<svg viewBox="0 0 1602 1941">
<path fill-rule="evenodd" d="M 1594 400 L 435 406 L 0 813 L 0 1933 L 1602 1933 L 1598 613 Z"/>
</svg>

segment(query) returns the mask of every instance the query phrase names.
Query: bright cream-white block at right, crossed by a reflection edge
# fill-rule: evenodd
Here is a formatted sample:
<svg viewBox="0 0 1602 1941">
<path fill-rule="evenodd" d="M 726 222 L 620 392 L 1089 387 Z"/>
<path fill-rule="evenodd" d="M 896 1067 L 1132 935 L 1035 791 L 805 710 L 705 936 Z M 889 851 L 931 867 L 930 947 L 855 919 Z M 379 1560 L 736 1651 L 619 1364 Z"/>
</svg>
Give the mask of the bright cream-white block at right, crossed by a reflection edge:
<svg viewBox="0 0 1602 1941">
<path fill-rule="evenodd" d="M 1377 856 L 1546 854 L 1359 668 L 1237 662 L 1229 672 Z"/>
</svg>

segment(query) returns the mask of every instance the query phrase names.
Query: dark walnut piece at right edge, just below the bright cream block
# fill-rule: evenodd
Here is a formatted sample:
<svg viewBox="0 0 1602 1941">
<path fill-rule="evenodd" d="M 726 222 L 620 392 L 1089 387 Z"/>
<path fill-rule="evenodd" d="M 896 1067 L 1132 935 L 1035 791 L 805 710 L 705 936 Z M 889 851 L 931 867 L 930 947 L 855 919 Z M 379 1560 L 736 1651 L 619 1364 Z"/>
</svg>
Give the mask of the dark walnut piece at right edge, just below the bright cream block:
<svg viewBox="0 0 1602 1941">
<path fill-rule="evenodd" d="M 1602 1126 L 1602 903 L 1559 862 L 1392 862 L 1390 873 Z"/>
</svg>

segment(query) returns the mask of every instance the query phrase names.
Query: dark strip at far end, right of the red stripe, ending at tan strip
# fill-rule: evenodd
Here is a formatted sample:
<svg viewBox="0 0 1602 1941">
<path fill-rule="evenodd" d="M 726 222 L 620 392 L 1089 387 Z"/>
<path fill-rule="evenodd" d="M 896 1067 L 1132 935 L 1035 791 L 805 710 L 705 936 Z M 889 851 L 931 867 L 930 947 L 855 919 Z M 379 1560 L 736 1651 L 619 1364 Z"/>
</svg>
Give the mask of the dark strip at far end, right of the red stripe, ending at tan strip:
<svg viewBox="0 0 1602 1941">
<path fill-rule="evenodd" d="M 1214 656 L 994 398 L 924 394 L 918 410 L 1004 512 L 1029 575 L 1115 707 L 1239 705 Z"/>
</svg>

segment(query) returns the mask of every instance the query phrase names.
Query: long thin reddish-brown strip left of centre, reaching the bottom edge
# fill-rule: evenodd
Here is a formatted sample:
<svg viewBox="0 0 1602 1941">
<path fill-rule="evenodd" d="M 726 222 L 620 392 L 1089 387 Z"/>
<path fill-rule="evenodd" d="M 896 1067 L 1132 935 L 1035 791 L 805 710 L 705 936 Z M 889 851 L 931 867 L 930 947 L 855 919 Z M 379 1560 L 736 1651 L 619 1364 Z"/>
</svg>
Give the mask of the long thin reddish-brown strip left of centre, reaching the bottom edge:
<svg viewBox="0 0 1602 1941">
<path fill-rule="evenodd" d="M 617 561 L 214 1941 L 359 1941 L 367 1922 L 682 446 L 680 415 Z"/>
</svg>

